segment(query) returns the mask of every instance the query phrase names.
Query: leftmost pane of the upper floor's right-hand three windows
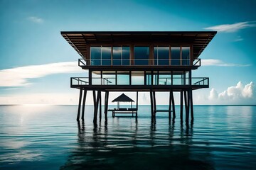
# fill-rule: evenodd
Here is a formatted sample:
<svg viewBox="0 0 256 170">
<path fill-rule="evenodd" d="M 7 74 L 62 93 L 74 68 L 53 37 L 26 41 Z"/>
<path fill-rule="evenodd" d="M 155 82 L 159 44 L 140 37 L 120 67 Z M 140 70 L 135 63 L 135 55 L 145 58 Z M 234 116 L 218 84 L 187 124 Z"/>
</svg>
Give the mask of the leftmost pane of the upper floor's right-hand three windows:
<svg viewBox="0 0 256 170">
<path fill-rule="evenodd" d="M 154 47 L 154 64 L 169 65 L 169 47 Z"/>
</svg>

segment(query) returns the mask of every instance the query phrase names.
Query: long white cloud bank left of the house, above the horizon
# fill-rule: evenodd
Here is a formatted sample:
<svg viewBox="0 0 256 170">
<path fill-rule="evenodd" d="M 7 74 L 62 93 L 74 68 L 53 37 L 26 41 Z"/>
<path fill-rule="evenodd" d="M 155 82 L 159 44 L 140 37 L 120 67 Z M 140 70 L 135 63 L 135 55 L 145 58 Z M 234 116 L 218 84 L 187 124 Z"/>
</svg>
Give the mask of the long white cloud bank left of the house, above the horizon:
<svg viewBox="0 0 256 170">
<path fill-rule="evenodd" d="M 28 79 L 45 77 L 49 74 L 82 72 L 78 62 L 58 62 L 30 65 L 0 70 L 0 86 L 28 86 Z"/>
</svg>

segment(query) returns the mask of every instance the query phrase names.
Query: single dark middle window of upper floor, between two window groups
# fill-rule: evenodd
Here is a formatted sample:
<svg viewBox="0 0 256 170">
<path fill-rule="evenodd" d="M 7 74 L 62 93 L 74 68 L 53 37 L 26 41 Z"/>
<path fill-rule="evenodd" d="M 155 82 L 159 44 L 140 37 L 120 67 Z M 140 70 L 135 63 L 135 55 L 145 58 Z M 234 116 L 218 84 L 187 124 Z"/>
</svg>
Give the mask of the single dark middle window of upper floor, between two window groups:
<svg viewBox="0 0 256 170">
<path fill-rule="evenodd" d="M 134 65 L 149 65 L 149 47 L 134 47 Z"/>
</svg>

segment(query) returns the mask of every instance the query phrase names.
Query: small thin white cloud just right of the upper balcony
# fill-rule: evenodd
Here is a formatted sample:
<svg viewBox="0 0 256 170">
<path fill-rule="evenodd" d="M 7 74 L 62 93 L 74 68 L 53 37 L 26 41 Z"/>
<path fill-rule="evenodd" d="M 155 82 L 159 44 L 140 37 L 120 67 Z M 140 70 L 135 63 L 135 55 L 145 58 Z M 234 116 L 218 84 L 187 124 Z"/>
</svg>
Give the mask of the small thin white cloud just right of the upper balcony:
<svg viewBox="0 0 256 170">
<path fill-rule="evenodd" d="M 202 59 L 202 66 L 222 66 L 222 67 L 248 67 L 250 64 L 233 64 L 233 63 L 225 63 L 221 60 L 215 59 Z"/>
</svg>

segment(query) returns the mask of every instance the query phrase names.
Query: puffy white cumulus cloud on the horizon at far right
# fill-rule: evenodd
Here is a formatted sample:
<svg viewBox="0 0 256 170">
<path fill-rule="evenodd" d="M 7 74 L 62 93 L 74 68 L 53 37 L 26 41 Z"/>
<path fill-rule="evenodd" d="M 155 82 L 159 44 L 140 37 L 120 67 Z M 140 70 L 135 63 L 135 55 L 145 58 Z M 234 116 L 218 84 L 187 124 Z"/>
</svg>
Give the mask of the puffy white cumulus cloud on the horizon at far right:
<svg viewBox="0 0 256 170">
<path fill-rule="evenodd" d="M 245 86 L 241 81 L 236 86 L 230 86 L 227 90 L 218 93 L 211 89 L 208 100 L 217 104 L 256 104 L 255 84 L 250 82 Z"/>
</svg>

